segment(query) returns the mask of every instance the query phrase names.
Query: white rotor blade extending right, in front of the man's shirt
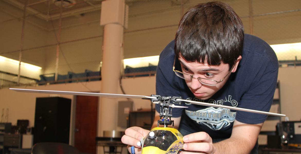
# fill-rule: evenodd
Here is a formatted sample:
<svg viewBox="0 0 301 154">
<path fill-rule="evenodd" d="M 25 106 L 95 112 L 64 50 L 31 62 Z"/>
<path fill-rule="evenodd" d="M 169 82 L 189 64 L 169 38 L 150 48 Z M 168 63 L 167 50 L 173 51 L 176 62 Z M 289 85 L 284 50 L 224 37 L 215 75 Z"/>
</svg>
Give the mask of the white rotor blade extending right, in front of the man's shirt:
<svg viewBox="0 0 301 154">
<path fill-rule="evenodd" d="M 252 112 L 252 113 L 260 113 L 260 114 L 266 114 L 266 115 L 271 115 L 271 116 L 286 116 L 285 114 L 264 112 L 264 111 L 251 110 L 251 109 L 225 106 L 225 105 L 218 105 L 218 104 L 203 103 L 203 102 L 190 101 L 190 100 L 185 100 L 185 99 L 176 99 L 176 101 L 184 101 L 184 102 L 189 102 L 191 104 L 204 105 L 204 106 L 210 106 L 210 107 L 221 107 L 221 108 L 226 108 L 226 109 L 231 109 L 231 110 L 239 110 L 239 111 L 246 111 L 246 112 Z"/>
</svg>

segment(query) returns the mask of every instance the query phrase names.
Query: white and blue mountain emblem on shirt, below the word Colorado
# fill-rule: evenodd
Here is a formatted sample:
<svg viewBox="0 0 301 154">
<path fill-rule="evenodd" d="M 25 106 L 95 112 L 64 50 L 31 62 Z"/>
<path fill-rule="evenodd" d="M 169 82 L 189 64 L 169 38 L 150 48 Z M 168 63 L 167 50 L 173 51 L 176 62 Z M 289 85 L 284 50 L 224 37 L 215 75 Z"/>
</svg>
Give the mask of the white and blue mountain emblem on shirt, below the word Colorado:
<svg viewBox="0 0 301 154">
<path fill-rule="evenodd" d="M 236 112 L 229 109 L 208 107 L 202 110 L 185 110 L 186 115 L 199 124 L 206 125 L 212 130 L 220 130 L 234 122 Z"/>
</svg>

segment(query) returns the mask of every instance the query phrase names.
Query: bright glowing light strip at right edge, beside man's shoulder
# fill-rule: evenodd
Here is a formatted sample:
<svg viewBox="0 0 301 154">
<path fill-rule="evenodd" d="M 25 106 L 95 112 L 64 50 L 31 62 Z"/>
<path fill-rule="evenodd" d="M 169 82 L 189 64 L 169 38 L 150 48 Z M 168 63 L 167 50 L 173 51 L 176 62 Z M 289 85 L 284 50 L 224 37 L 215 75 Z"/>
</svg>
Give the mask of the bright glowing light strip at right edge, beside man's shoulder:
<svg viewBox="0 0 301 154">
<path fill-rule="evenodd" d="M 275 44 L 271 47 L 278 60 L 295 60 L 295 57 L 301 59 L 301 43 Z"/>
</svg>

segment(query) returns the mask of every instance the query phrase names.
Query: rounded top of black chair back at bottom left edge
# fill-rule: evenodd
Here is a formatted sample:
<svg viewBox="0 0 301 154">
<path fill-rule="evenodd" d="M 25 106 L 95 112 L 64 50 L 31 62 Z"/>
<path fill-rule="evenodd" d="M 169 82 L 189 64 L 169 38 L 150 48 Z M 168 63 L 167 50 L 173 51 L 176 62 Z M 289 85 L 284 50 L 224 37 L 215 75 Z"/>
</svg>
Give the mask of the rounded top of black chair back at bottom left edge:
<svg viewBox="0 0 301 154">
<path fill-rule="evenodd" d="M 66 143 L 36 143 L 31 154 L 81 154 L 78 149 Z"/>
</svg>

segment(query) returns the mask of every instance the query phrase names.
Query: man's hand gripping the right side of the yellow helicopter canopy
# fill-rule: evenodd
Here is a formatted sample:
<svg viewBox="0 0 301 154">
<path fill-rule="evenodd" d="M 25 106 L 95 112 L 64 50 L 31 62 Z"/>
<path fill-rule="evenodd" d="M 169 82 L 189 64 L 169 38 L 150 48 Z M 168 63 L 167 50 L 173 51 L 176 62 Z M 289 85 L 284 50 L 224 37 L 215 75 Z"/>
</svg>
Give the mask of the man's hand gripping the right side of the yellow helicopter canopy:
<svg viewBox="0 0 301 154">
<path fill-rule="evenodd" d="M 183 137 L 184 145 L 180 154 L 206 153 L 212 154 L 216 151 L 211 137 L 205 132 L 197 132 Z"/>
</svg>

